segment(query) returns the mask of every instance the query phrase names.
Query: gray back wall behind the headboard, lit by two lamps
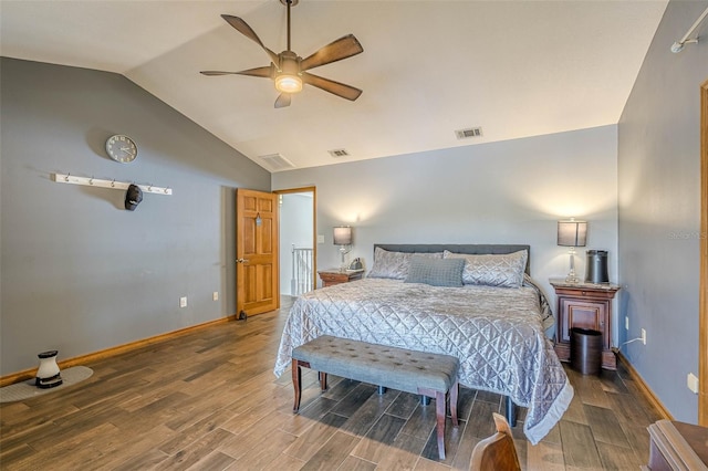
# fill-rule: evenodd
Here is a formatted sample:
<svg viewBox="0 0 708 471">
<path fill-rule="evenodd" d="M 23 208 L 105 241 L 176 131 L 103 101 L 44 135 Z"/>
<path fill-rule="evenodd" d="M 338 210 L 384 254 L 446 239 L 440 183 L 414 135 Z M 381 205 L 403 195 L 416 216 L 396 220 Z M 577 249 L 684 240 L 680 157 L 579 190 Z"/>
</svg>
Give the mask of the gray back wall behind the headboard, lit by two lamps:
<svg viewBox="0 0 708 471">
<path fill-rule="evenodd" d="M 273 174 L 273 189 L 316 186 L 317 266 L 339 266 L 332 227 L 354 227 L 351 259 L 376 242 L 529 243 L 531 273 L 565 276 L 556 220 L 589 221 L 587 249 L 617 278 L 616 126 Z M 585 253 L 577 271 L 584 275 Z M 616 328 L 615 328 L 616 331 Z"/>
</svg>

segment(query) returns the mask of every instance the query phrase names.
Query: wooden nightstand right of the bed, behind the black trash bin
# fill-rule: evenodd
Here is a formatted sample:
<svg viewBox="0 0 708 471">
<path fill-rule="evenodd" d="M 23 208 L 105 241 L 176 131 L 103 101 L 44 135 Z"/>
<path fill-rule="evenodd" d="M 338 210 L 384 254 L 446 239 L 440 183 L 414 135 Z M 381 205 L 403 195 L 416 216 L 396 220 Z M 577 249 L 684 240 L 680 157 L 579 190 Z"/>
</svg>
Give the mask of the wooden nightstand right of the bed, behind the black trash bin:
<svg viewBox="0 0 708 471">
<path fill-rule="evenodd" d="M 612 352 L 612 300 L 620 286 L 612 283 L 568 283 L 549 280 L 558 295 L 555 354 L 561 362 L 571 359 L 571 328 L 581 327 L 602 333 L 602 367 L 617 369 Z"/>
</svg>

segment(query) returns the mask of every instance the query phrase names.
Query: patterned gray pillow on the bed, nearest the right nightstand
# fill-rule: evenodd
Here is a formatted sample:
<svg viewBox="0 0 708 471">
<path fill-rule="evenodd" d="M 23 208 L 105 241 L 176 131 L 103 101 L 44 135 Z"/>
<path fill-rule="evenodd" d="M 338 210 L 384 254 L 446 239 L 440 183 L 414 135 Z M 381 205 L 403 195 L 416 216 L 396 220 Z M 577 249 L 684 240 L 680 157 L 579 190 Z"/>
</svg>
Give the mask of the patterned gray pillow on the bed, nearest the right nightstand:
<svg viewBox="0 0 708 471">
<path fill-rule="evenodd" d="M 470 255 L 445 251 L 445 259 L 464 259 L 462 283 L 485 284 L 488 286 L 521 287 L 529 252 L 520 250 L 513 253 Z"/>
</svg>

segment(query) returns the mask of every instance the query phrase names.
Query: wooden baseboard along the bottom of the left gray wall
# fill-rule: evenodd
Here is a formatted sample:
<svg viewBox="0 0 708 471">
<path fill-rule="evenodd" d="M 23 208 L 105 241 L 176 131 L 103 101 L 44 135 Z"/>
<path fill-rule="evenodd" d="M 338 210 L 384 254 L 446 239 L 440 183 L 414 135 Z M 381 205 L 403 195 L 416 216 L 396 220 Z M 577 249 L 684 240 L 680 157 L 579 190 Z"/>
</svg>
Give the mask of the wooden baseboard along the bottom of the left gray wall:
<svg viewBox="0 0 708 471">
<path fill-rule="evenodd" d="M 231 322 L 231 321 L 236 321 L 238 317 L 236 315 L 232 316 L 228 316 L 228 317 L 221 317 L 221 318 L 217 318 L 214 321 L 209 321 L 209 322 L 205 322 L 204 324 L 197 324 L 197 325 L 192 325 L 189 327 L 185 327 L 185 328 L 180 328 L 179 331 L 173 331 L 173 332 L 168 332 L 166 334 L 160 334 L 160 335 L 156 335 L 154 337 L 149 337 L 149 338 L 143 338 L 140 341 L 135 341 L 135 342 L 131 342 L 129 344 L 124 344 L 124 345 L 118 345 L 115 347 L 111 347 L 111 348 L 106 348 L 105 350 L 100 350 L 100 352 L 94 352 L 91 354 L 86 354 L 86 355 L 81 355 L 77 357 L 73 357 L 73 358 L 69 358 L 69 359 L 63 359 L 60 362 L 56 362 L 56 364 L 59 365 L 60 369 L 63 368 L 69 368 L 71 366 L 76 366 L 76 365 L 85 365 L 86 363 L 91 363 L 91 362 L 96 362 L 98 359 L 104 359 L 104 358 L 108 358 L 125 352 L 129 352 L 129 350 L 134 350 L 140 347 L 144 347 L 146 345 L 152 345 L 155 344 L 157 342 L 164 342 L 167 341 L 169 338 L 173 337 L 178 337 L 180 335 L 185 335 L 195 331 L 198 331 L 200 328 L 205 328 L 215 324 L 222 324 L 222 323 L 227 323 L 227 322 Z M 37 374 L 37 368 L 31 368 L 31 369 L 25 369 L 22 371 L 17 371 L 17 373 L 12 373 L 10 375 L 7 376 L 2 376 L 0 377 L 0 387 L 3 386 L 8 386 L 8 385 L 12 385 L 14 383 L 19 383 L 19 381 L 24 381 L 28 379 L 32 379 L 34 378 L 34 375 Z"/>
</svg>

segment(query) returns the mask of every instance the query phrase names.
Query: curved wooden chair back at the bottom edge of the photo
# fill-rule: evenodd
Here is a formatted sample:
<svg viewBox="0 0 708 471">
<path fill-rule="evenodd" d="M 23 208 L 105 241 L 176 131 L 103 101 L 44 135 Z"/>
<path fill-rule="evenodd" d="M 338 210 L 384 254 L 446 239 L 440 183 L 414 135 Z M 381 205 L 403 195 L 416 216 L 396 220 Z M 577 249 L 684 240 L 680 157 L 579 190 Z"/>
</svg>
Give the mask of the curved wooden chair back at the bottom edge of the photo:
<svg viewBox="0 0 708 471">
<path fill-rule="evenodd" d="M 470 471 L 520 471 L 519 457 L 507 419 L 492 414 L 497 433 L 477 443 L 472 450 Z"/>
</svg>

